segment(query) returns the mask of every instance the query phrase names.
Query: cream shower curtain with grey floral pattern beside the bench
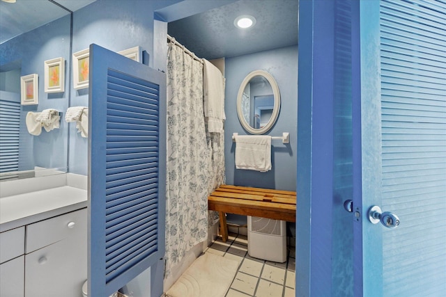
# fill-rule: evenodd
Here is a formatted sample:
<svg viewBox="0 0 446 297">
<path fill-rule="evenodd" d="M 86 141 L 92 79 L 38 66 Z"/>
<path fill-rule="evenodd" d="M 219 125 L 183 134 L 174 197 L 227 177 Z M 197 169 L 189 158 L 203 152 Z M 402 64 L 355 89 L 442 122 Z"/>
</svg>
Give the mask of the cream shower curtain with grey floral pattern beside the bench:
<svg viewBox="0 0 446 297">
<path fill-rule="evenodd" d="M 203 64 L 170 42 L 165 276 L 188 250 L 208 238 L 208 195 L 224 182 L 223 137 L 206 134 Z"/>
</svg>

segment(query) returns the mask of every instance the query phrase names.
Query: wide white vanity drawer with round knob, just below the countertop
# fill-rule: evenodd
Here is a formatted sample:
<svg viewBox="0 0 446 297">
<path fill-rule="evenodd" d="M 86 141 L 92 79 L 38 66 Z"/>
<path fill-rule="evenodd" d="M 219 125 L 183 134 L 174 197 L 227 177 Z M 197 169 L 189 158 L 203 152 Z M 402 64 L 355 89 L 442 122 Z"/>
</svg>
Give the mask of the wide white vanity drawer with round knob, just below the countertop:
<svg viewBox="0 0 446 297">
<path fill-rule="evenodd" d="M 26 226 L 26 254 L 44 246 L 86 233 L 86 209 Z"/>
</svg>

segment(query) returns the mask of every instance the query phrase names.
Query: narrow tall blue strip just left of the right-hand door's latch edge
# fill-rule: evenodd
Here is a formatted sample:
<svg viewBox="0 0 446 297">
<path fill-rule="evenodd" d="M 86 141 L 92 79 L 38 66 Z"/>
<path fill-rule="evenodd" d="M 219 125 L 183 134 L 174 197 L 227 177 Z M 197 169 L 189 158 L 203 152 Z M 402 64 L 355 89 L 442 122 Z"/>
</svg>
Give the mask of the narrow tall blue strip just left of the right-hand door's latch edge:
<svg viewBox="0 0 446 297">
<path fill-rule="evenodd" d="M 332 293 L 353 296 L 353 220 L 344 210 L 353 197 L 351 85 L 351 1 L 337 0 L 334 6 L 334 102 L 333 102 L 333 196 Z"/>
</svg>

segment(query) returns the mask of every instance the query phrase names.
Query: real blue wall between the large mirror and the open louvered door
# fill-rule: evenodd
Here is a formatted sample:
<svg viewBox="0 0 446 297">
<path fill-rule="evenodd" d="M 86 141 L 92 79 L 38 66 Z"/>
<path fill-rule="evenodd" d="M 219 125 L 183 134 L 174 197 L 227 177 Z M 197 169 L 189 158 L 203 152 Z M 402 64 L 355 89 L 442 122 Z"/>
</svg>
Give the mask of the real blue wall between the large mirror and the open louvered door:
<svg viewBox="0 0 446 297">
<path fill-rule="evenodd" d="M 169 1 L 98 0 L 75 11 L 73 16 L 73 53 L 91 43 L 112 51 L 139 46 L 144 52 L 143 63 L 152 65 L 153 19 L 155 10 L 177 3 Z M 71 90 L 71 106 L 88 106 L 88 88 Z M 75 125 L 70 125 L 70 172 L 87 174 L 87 138 L 82 138 Z"/>
</svg>

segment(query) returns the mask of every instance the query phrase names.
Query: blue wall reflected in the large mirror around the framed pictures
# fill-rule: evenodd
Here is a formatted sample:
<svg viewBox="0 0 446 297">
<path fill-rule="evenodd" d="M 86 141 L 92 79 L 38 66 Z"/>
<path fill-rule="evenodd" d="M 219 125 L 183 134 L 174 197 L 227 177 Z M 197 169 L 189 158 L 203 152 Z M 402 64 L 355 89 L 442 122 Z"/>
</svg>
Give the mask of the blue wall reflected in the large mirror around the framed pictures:
<svg viewBox="0 0 446 297">
<path fill-rule="evenodd" d="M 45 93 L 44 61 L 62 57 L 66 60 L 66 91 Z M 67 166 L 67 123 L 61 118 L 60 129 L 45 131 L 32 136 L 26 130 L 25 118 L 29 111 L 57 109 L 65 112 L 68 108 L 68 65 L 70 58 L 70 16 L 62 17 L 38 29 L 24 33 L 0 45 L 0 66 L 2 69 L 21 68 L 20 75 L 38 74 L 39 104 L 22 106 L 20 127 L 20 170 L 34 166 L 65 168 Z"/>
</svg>

